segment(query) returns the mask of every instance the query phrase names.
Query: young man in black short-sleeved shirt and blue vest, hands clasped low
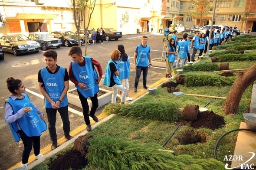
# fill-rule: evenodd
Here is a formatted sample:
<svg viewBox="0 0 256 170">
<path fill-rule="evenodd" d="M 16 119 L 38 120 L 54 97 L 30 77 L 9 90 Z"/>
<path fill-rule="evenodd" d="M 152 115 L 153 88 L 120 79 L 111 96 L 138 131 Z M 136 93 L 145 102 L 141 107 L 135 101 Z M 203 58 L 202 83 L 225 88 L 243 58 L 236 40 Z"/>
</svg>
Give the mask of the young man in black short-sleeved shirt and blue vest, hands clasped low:
<svg viewBox="0 0 256 170">
<path fill-rule="evenodd" d="M 62 119 L 63 131 L 65 138 L 70 140 L 72 136 L 70 132 L 69 112 L 68 112 L 68 98 L 67 92 L 69 89 L 69 75 L 67 69 L 56 65 L 57 52 L 49 49 L 43 53 L 46 61 L 46 67 L 39 70 L 38 82 L 39 89 L 45 98 L 45 108 L 48 118 L 48 130 L 52 144 L 52 150 L 57 147 L 56 134 L 56 113 L 57 110 Z"/>
</svg>

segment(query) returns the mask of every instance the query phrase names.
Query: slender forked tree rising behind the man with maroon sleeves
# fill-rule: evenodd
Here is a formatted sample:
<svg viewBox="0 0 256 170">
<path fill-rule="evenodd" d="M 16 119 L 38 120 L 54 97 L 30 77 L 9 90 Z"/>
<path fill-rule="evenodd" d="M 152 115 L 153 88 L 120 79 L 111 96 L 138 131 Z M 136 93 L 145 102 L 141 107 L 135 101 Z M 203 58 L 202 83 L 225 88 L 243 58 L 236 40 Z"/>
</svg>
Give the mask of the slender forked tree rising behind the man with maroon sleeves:
<svg viewBox="0 0 256 170">
<path fill-rule="evenodd" d="M 96 0 L 72 0 L 73 5 L 73 17 L 75 21 L 75 28 L 78 33 L 78 37 L 80 37 L 80 29 L 82 26 L 84 26 L 84 32 L 85 32 L 85 55 L 87 54 L 87 29 L 90 24 L 90 20 L 92 18 L 92 13 L 95 8 Z M 85 23 L 85 14 L 88 14 L 88 23 L 86 25 Z M 81 47 L 81 42 L 78 41 L 79 47 Z"/>
</svg>

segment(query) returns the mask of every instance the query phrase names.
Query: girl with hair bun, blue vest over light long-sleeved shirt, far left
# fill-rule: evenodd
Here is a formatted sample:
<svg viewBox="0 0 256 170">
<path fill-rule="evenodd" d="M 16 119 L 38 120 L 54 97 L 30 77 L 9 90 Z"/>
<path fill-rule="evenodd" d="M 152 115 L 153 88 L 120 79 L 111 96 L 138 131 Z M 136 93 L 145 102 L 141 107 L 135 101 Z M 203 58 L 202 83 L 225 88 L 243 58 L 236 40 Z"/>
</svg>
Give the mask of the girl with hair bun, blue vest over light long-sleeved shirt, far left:
<svg viewBox="0 0 256 170">
<path fill-rule="evenodd" d="M 46 131 L 43 112 L 39 110 L 25 93 L 26 88 L 19 79 L 7 78 L 7 88 L 11 92 L 5 102 L 5 122 L 9 124 L 15 142 L 23 141 L 21 167 L 27 167 L 32 147 L 35 159 L 43 157 L 40 154 L 40 136 Z"/>
</svg>

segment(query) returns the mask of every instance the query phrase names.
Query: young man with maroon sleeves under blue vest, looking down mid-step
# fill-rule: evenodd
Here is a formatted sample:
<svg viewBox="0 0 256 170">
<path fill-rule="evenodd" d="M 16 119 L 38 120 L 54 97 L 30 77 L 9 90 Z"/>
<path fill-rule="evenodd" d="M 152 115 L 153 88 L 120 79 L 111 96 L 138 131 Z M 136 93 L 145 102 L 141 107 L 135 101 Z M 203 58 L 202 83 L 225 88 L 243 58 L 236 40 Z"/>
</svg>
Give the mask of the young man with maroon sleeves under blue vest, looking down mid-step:
<svg viewBox="0 0 256 170">
<path fill-rule="evenodd" d="M 83 115 L 86 124 L 86 130 L 92 131 L 89 116 L 95 122 L 98 118 L 95 116 L 96 109 L 98 108 L 98 83 L 102 79 L 102 67 L 99 62 L 88 56 L 82 56 L 82 50 L 78 46 L 72 46 L 69 50 L 69 56 L 72 62 L 69 65 L 69 78 L 75 84 L 79 99 L 83 108 Z M 96 66 L 98 74 L 94 68 Z M 98 76 L 99 75 L 99 76 Z M 89 114 L 89 105 L 87 98 L 90 97 L 92 101 L 92 108 Z"/>
</svg>

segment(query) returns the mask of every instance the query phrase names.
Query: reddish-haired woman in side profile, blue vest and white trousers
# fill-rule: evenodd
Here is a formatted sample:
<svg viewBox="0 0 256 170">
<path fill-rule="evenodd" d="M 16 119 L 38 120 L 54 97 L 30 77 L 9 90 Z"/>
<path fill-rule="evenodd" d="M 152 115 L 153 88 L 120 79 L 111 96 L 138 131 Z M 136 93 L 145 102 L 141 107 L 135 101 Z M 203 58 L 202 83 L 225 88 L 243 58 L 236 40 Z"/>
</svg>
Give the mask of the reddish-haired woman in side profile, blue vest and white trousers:
<svg viewBox="0 0 256 170">
<path fill-rule="evenodd" d="M 127 89 L 121 85 L 119 79 L 119 71 L 118 71 L 118 62 L 120 62 L 121 52 L 118 49 L 115 49 L 111 54 L 111 59 L 108 61 L 108 65 L 106 67 L 105 76 L 103 79 L 103 85 L 107 85 L 108 87 L 112 87 L 112 99 L 111 103 L 115 104 L 116 97 L 118 94 L 118 90 L 122 92 L 121 94 L 121 104 L 125 104 L 125 96 L 127 94 Z"/>
</svg>

